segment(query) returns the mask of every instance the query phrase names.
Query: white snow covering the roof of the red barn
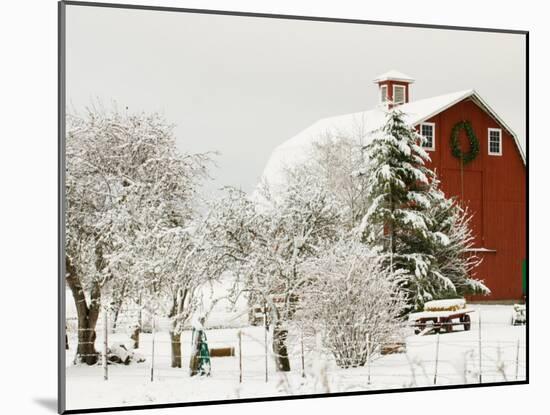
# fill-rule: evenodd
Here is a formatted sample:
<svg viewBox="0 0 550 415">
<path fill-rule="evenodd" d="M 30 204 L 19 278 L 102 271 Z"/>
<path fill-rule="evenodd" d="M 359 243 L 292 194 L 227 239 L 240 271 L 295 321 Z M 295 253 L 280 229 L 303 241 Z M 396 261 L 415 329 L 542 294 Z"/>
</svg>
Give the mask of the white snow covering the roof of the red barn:
<svg viewBox="0 0 550 415">
<path fill-rule="evenodd" d="M 395 73 L 399 74 L 397 71 L 390 71 L 384 75 Z M 518 151 L 525 163 L 525 155 L 517 136 L 473 89 L 409 102 L 400 105 L 399 108 L 405 114 L 407 123 L 418 125 L 466 98 L 476 102 L 514 137 Z M 278 186 L 284 185 L 285 170 L 306 162 L 314 143 L 321 142 L 327 136 L 346 136 L 361 144 L 366 144 L 372 133 L 383 126 L 384 120 L 385 108 L 383 106 L 369 111 L 320 119 L 274 149 L 266 164 L 262 179 L 276 191 Z"/>
</svg>

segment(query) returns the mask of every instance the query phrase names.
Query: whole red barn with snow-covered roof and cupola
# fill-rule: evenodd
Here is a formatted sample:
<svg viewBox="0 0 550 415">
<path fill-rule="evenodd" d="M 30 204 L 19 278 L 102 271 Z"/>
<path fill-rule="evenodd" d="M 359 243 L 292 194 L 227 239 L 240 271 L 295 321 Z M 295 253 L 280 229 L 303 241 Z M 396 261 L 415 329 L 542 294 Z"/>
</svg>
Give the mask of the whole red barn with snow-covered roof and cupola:
<svg viewBox="0 0 550 415">
<path fill-rule="evenodd" d="M 456 196 L 473 214 L 476 239 L 472 251 L 483 259 L 475 275 L 492 293 L 471 299 L 522 299 L 526 165 L 516 135 L 473 89 L 410 101 L 414 80 L 409 76 L 389 71 L 374 82 L 379 88 L 379 103 L 374 109 L 312 124 L 274 150 L 263 179 L 275 187 L 283 184 L 280 172 L 285 166 L 306 161 L 307 148 L 327 133 L 354 136 L 364 143 L 382 127 L 388 102 L 399 105 L 406 121 L 426 137 L 429 167 L 437 172 L 443 191 Z M 453 149 L 471 153 L 472 143 L 474 150 L 478 149 L 472 160 L 463 163 L 453 155 Z"/>
</svg>

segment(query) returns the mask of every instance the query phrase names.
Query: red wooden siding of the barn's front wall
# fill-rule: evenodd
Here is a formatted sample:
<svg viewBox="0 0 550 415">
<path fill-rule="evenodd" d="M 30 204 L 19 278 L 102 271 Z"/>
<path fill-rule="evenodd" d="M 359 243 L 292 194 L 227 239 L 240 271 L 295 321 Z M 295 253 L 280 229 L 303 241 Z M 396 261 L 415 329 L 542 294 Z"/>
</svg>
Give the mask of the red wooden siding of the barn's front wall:
<svg viewBox="0 0 550 415">
<path fill-rule="evenodd" d="M 450 145 L 451 130 L 462 120 L 470 121 L 480 144 L 477 158 L 464 166 L 463 179 L 460 161 L 452 155 Z M 427 122 L 435 123 L 435 151 L 429 152 L 429 167 L 436 170 L 443 191 L 461 199 L 474 215 L 476 248 L 496 251 L 481 254 L 483 263 L 475 272 L 491 289 L 491 295 L 471 299 L 521 299 L 521 265 L 526 257 L 526 170 L 514 138 L 468 99 Z M 502 130 L 501 156 L 489 155 L 489 128 Z M 464 131 L 460 142 L 461 148 L 469 148 Z"/>
</svg>

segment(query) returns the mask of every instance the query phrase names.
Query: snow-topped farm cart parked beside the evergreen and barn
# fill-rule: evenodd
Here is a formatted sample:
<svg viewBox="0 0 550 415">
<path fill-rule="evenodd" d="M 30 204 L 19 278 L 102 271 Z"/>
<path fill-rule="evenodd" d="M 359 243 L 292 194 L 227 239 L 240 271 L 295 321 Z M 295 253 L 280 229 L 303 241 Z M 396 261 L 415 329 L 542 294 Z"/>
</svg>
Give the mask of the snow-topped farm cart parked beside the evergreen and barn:
<svg viewBox="0 0 550 415">
<path fill-rule="evenodd" d="M 464 330 L 468 331 L 472 324 L 469 313 L 473 311 L 467 308 L 452 311 L 421 311 L 412 313 L 409 321 L 414 322 L 415 334 L 426 334 L 432 330 L 439 333 L 442 329 L 450 333 L 455 326 L 463 326 Z"/>
</svg>

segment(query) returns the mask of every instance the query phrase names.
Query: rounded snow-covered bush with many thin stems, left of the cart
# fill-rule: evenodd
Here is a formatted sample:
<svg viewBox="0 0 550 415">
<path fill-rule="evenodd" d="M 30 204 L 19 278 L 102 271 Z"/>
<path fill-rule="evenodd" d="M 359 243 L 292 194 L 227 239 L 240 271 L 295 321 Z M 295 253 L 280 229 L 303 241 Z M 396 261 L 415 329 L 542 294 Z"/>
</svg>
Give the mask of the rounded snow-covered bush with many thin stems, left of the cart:
<svg viewBox="0 0 550 415">
<path fill-rule="evenodd" d="M 369 354 L 400 333 L 403 295 L 364 244 L 342 240 L 301 270 L 310 283 L 300 294 L 299 318 L 320 330 L 339 367 L 363 366 Z"/>
</svg>

